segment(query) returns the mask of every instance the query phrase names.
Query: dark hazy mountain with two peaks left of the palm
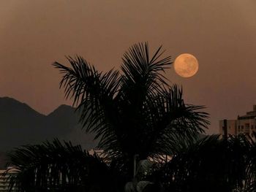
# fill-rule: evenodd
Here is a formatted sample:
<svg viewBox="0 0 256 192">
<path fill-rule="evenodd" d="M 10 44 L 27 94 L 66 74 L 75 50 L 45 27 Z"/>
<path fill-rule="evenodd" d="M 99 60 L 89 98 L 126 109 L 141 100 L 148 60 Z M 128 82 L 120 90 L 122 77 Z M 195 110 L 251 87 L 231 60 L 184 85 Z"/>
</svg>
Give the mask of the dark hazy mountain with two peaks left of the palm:
<svg viewBox="0 0 256 192">
<path fill-rule="evenodd" d="M 97 145 L 92 134 L 81 130 L 73 107 L 61 105 L 49 115 L 42 115 L 20 101 L 0 98 L 0 166 L 5 151 L 56 137 L 80 144 L 87 150 Z"/>
</svg>

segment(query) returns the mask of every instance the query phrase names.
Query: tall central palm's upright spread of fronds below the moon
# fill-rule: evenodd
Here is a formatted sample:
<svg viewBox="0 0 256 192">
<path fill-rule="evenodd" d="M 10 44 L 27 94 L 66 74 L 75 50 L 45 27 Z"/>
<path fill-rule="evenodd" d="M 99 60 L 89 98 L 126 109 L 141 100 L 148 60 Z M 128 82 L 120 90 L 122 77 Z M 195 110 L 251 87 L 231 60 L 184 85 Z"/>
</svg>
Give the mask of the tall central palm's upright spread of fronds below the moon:
<svg viewBox="0 0 256 192">
<path fill-rule="evenodd" d="M 83 128 L 96 134 L 105 162 L 115 164 L 127 181 L 135 179 L 139 161 L 173 154 L 178 140 L 189 142 L 208 125 L 203 107 L 184 104 L 182 89 L 168 85 L 164 72 L 172 63 L 163 53 L 162 47 L 151 55 L 147 43 L 133 45 L 121 72 L 99 72 L 80 56 L 67 57 L 71 66 L 53 64 Z"/>
</svg>

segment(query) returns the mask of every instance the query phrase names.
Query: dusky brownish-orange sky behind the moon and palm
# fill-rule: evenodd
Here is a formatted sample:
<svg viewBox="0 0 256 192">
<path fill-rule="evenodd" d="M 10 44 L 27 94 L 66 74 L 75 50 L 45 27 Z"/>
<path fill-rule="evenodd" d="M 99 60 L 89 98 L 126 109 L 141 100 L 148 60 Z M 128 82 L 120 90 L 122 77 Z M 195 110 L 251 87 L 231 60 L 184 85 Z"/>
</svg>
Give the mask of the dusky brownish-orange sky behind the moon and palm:
<svg viewBox="0 0 256 192">
<path fill-rule="evenodd" d="M 166 70 L 182 85 L 188 104 L 206 106 L 209 134 L 218 121 L 234 119 L 256 104 L 255 0 L 10 0 L 0 1 L 0 96 L 10 96 L 47 115 L 72 104 L 59 89 L 51 65 L 81 55 L 99 71 L 121 66 L 131 45 L 162 45 L 172 61 L 191 53 L 194 77 Z"/>
</svg>

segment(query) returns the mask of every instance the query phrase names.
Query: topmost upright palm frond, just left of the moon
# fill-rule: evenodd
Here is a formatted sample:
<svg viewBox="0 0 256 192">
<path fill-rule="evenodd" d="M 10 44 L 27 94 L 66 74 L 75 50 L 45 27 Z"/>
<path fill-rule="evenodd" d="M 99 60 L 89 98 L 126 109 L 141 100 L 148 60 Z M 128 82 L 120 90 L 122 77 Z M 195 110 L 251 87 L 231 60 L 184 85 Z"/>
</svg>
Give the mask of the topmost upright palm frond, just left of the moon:
<svg viewBox="0 0 256 192">
<path fill-rule="evenodd" d="M 162 46 L 150 58 L 147 43 L 133 45 L 124 53 L 121 71 L 122 96 L 126 99 L 137 99 L 141 102 L 148 94 L 154 94 L 157 88 L 167 85 L 162 72 L 172 62 L 170 56 L 160 58 L 164 51 Z M 138 100 L 140 99 L 140 100 Z"/>
</svg>

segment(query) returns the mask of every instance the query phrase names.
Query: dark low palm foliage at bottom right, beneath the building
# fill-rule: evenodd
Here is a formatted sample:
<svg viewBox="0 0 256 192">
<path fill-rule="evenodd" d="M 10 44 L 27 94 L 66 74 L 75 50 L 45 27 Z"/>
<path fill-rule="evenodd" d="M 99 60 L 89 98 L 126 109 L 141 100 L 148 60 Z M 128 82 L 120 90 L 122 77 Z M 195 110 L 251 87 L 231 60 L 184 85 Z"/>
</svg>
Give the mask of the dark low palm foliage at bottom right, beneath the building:
<svg viewBox="0 0 256 192">
<path fill-rule="evenodd" d="M 154 177 L 167 191 L 255 191 L 255 154 L 250 137 L 211 135 L 179 148 Z"/>
</svg>

